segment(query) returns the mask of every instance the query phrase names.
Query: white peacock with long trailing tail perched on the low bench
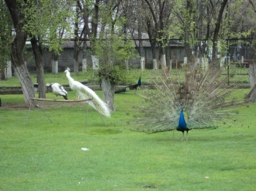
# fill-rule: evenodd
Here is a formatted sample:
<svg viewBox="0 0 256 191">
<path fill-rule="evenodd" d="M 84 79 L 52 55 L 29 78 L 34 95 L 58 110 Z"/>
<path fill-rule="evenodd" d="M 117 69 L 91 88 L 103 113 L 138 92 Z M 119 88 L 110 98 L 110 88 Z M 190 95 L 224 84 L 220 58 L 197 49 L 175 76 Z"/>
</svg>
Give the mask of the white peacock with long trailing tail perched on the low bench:
<svg viewBox="0 0 256 191">
<path fill-rule="evenodd" d="M 69 69 L 65 70 L 64 72 L 66 73 L 67 79 L 69 80 L 69 87 L 76 92 L 77 98 L 92 98 L 92 100 L 89 101 L 90 106 L 92 106 L 95 110 L 105 115 L 106 117 L 110 117 L 110 109 L 108 108 L 108 104 L 102 101 L 102 99 L 99 98 L 99 96 L 89 87 L 72 79 L 72 77 L 70 77 Z"/>
</svg>

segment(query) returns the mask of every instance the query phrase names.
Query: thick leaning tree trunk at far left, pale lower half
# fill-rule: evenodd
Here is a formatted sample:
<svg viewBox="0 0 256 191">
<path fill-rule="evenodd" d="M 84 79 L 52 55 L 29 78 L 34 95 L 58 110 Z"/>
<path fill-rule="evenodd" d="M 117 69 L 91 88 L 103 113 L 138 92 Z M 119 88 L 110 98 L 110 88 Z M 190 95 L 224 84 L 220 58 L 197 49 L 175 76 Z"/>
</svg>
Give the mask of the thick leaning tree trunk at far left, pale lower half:
<svg viewBox="0 0 256 191">
<path fill-rule="evenodd" d="M 25 106 L 37 106 L 36 102 L 31 98 L 34 98 L 34 85 L 29 71 L 25 66 L 23 59 L 23 48 L 26 44 L 27 33 L 23 30 L 23 17 L 19 8 L 23 6 L 15 0 L 5 0 L 7 7 L 12 16 L 12 22 L 15 28 L 15 39 L 11 44 L 11 60 L 12 66 L 15 70 L 15 74 L 20 80 L 21 89 L 25 100 Z"/>
</svg>

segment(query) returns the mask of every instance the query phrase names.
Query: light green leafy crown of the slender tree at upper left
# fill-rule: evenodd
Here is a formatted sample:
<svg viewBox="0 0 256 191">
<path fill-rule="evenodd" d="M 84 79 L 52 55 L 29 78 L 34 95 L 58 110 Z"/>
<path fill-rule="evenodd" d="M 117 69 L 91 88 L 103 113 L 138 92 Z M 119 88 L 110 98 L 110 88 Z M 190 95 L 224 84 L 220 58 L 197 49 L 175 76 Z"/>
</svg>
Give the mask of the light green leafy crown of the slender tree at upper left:
<svg viewBox="0 0 256 191">
<path fill-rule="evenodd" d="M 72 1 L 28 1 L 23 7 L 26 30 L 30 37 L 39 39 L 41 46 L 59 55 L 63 37 L 72 36 L 74 10 Z"/>
</svg>

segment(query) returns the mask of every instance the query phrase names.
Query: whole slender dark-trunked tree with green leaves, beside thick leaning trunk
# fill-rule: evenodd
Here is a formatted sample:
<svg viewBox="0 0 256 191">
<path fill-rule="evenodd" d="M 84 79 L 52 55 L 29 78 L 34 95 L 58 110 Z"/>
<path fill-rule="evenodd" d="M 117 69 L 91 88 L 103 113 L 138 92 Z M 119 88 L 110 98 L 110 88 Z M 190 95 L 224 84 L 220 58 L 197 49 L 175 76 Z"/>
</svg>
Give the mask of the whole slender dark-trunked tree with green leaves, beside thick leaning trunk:
<svg viewBox="0 0 256 191">
<path fill-rule="evenodd" d="M 69 1 L 31 1 L 24 8 L 26 25 L 24 30 L 29 34 L 35 64 L 37 66 L 37 83 L 39 98 L 45 98 L 45 78 L 42 58 L 42 50 L 49 48 L 56 60 L 62 51 L 61 42 L 64 34 L 70 35 L 71 27 L 68 20 L 72 22 L 72 9 Z M 53 66 L 56 63 L 53 63 Z M 57 66 L 56 66 L 57 67 Z M 57 73 L 56 70 L 53 70 Z"/>
</svg>

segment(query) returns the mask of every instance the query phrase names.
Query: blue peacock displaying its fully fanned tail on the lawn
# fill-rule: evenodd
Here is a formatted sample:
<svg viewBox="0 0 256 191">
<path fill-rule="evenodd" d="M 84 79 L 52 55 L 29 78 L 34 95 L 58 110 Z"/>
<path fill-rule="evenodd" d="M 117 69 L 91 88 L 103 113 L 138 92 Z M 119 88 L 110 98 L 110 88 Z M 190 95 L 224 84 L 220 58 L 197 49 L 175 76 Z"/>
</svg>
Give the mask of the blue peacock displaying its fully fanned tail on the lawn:
<svg viewBox="0 0 256 191">
<path fill-rule="evenodd" d="M 212 65 L 214 66 L 214 65 Z M 236 121 L 236 106 L 244 103 L 233 93 L 236 83 L 230 83 L 222 70 L 208 66 L 188 67 L 184 76 L 174 79 L 168 75 L 151 79 L 155 90 L 143 90 L 142 104 L 133 106 L 135 120 L 129 122 L 131 130 L 157 133 L 178 130 L 217 128 Z M 137 112 L 136 112 L 137 111 Z"/>
</svg>

